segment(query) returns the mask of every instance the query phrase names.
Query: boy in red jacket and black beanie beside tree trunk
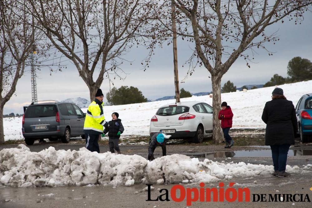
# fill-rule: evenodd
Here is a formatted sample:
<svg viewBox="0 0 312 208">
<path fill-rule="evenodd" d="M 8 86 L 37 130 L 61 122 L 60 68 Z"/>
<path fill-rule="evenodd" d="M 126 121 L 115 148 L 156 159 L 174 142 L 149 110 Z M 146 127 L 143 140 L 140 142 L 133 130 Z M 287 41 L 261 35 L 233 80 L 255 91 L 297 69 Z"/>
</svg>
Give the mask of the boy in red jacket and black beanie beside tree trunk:
<svg viewBox="0 0 312 208">
<path fill-rule="evenodd" d="M 227 102 L 221 104 L 221 110 L 219 112 L 219 120 L 221 120 L 221 128 L 223 130 L 225 141 L 227 142 L 224 148 L 231 148 L 234 144 L 233 139 L 229 135 L 230 128 L 232 128 L 233 113 L 231 107 L 227 105 Z"/>
</svg>

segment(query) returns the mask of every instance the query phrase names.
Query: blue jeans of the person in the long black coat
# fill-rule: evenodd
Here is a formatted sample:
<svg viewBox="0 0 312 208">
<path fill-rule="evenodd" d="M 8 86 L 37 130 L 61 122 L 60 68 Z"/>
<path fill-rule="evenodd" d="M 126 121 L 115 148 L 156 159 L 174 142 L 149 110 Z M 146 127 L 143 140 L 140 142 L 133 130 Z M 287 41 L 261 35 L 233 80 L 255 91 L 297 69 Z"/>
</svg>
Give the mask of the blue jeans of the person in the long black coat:
<svg viewBox="0 0 312 208">
<path fill-rule="evenodd" d="M 272 151 L 274 171 L 285 171 L 287 153 L 288 153 L 290 144 L 270 145 L 270 147 Z"/>
</svg>

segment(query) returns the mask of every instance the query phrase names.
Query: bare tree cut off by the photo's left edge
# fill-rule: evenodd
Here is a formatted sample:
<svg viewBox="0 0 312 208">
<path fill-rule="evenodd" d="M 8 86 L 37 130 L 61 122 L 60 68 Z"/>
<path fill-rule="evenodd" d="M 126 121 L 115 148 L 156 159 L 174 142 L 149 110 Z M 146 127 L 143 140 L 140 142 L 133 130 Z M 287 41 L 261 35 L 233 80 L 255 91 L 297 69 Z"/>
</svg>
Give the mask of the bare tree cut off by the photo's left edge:
<svg viewBox="0 0 312 208">
<path fill-rule="evenodd" d="M 0 143 L 4 143 L 3 107 L 15 92 L 33 44 L 29 17 L 17 11 L 15 0 L 0 1 Z"/>
</svg>

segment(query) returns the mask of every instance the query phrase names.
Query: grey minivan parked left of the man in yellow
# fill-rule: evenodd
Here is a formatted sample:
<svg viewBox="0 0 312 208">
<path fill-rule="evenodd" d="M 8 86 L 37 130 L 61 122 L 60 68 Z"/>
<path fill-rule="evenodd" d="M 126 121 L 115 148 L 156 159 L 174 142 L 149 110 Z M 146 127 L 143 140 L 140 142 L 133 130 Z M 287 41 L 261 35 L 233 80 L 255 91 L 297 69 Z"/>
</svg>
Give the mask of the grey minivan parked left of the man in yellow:
<svg viewBox="0 0 312 208">
<path fill-rule="evenodd" d="M 60 138 L 63 143 L 68 143 L 71 137 L 85 138 L 84 123 L 85 114 L 73 103 L 57 100 L 35 101 L 24 108 L 22 133 L 27 145 L 43 138 L 50 141 Z"/>
</svg>

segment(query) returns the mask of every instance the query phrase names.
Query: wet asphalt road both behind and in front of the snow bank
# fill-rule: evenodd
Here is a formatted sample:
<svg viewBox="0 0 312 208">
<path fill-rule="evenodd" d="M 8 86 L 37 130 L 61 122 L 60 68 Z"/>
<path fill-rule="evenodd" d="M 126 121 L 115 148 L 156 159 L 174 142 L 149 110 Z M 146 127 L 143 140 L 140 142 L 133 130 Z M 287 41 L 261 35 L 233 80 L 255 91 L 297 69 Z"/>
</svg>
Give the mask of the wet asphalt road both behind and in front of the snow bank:
<svg viewBox="0 0 312 208">
<path fill-rule="evenodd" d="M 17 144 L 1 145 L 0 150 L 3 148 L 15 148 Z M 79 150 L 84 147 L 84 144 L 63 144 L 60 142 L 47 142 L 47 143 L 35 143 L 32 146 L 28 146 L 31 151 L 39 152 L 45 148 L 53 146 L 58 149 L 71 149 Z M 142 157 L 147 157 L 147 145 L 124 145 L 120 146 L 123 154 L 138 154 Z M 248 153 L 248 151 L 255 149 L 263 149 L 266 147 L 246 147 L 246 146 L 233 146 L 228 152 L 242 151 Z M 296 145 L 292 147 L 294 150 L 312 151 L 312 144 Z M 100 152 L 106 152 L 109 148 L 107 145 L 100 145 Z M 246 151 L 247 150 L 247 151 Z M 202 156 L 212 157 L 214 161 L 221 162 L 226 157 L 225 149 L 222 145 L 209 145 L 209 146 L 197 146 L 197 145 L 168 145 L 168 154 L 186 154 L 189 156 L 197 156 L 200 160 L 204 159 Z M 293 150 L 290 150 L 293 151 Z M 309 153 L 308 153 L 309 154 Z M 161 148 L 156 148 L 156 157 L 161 156 Z M 224 157 L 223 157 L 224 156 Z M 211 158 L 210 158 L 211 159 Z M 253 164 L 265 164 L 271 165 L 272 159 L 268 157 L 232 157 L 233 162 L 246 162 Z M 289 156 L 288 165 L 302 165 L 312 164 L 312 156 Z M 231 181 L 224 181 L 225 190 L 228 188 L 229 182 L 236 182 L 241 186 L 234 186 L 235 189 L 239 187 L 247 187 L 250 189 L 251 202 L 193 202 L 192 206 L 187 206 L 187 201 L 184 199 L 181 202 L 173 201 L 170 196 L 174 184 L 170 185 L 153 185 L 154 191 L 151 191 L 151 199 L 156 199 L 157 196 L 164 194 L 159 193 L 160 189 L 168 190 L 168 200 L 170 201 L 146 201 L 148 199 L 148 192 L 142 191 L 146 185 L 136 184 L 131 187 L 126 186 L 66 186 L 66 187 L 38 187 L 38 188 L 12 188 L 12 187 L 0 187 L 0 207 L 311 207 L 312 203 L 308 202 L 306 195 L 312 201 L 312 191 L 309 189 L 312 187 L 311 172 L 301 172 L 300 174 L 292 174 L 291 177 L 278 178 L 271 175 L 259 176 L 252 178 L 233 177 Z M 205 184 L 204 188 L 218 188 L 219 184 Z M 185 188 L 196 187 L 199 190 L 199 185 L 188 184 L 184 185 Z M 179 197 L 179 192 L 177 192 Z M 253 194 L 263 194 L 266 196 L 266 201 L 255 202 L 253 200 Z M 269 194 L 303 194 L 305 202 L 290 201 L 288 202 L 269 202 Z M 193 196 L 193 195 L 192 195 Z M 255 195 L 257 198 L 257 195 Z M 290 196 L 290 195 L 289 195 Z M 300 199 L 300 195 L 296 195 L 297 200 Z M 286 196 L 285 196 L 286 197 Z M 286 198 L 285 198 L 286 199 Z"/>
</svg>

